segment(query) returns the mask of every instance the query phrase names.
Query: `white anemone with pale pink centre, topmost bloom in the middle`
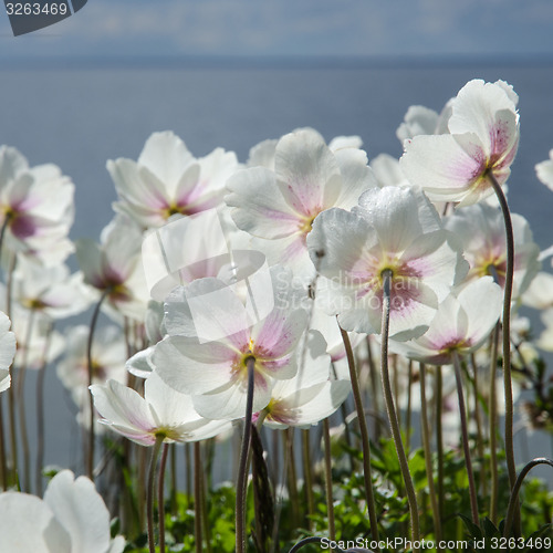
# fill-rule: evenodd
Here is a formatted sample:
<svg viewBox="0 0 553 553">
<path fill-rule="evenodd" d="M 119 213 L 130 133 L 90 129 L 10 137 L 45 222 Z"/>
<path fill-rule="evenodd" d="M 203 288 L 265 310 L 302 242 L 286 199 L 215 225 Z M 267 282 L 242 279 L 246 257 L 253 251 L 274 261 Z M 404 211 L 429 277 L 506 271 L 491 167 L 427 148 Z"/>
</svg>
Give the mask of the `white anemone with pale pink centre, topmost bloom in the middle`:
<svg viewBox="0 0 553 553">
<path fill-rule="evenodd" d="M 332 152 L 316 131 L 304 128 L 279 140 L 274 170 L 252 167 L 233 175 L 226 201 L 238 228 L 260 239 L 254 243 L 271 264 L 311 280 L 305 239 L 315 217 L 332 207 L 352 208 L 375 186 L 363 150 Z"/>
</svg>

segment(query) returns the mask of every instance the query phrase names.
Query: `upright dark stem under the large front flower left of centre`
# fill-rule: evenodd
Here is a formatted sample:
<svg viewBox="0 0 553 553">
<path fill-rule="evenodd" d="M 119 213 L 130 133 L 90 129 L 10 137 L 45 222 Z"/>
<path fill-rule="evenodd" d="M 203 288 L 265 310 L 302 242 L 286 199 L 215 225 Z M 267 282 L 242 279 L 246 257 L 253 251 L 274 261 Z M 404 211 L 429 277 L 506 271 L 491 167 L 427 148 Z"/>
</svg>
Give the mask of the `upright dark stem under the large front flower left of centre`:
<svg viewBox="0 0 553 553">
<path fill-rule="evenodd" d="M 248 483 L 248 453 L 250 450 L 251 418 L 253 415 L 253 387 L 255 359 L 248 359 L 248 397 L 246 403 L 246 418 L 240 450 L 240 462 L 238 465 L 237 480 L 237 505 L 236 505 L 236 545 L 237 553 L 246 552 L 246 488 Z"/>
</svg>

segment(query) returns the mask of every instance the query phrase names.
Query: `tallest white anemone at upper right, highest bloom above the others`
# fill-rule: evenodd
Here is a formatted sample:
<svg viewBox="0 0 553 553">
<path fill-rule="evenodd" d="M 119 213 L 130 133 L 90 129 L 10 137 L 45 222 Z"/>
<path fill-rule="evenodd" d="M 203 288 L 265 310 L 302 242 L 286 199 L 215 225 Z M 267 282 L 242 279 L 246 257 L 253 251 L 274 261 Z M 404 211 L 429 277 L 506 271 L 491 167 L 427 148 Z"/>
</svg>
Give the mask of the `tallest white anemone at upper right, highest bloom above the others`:
<svg viewBox="0 0 553 553">
<path fill-rule="evenodd" d="M 503 81 L 467 83 L 451 102 L 450 134 L 418 135 L 404 143 L 407 178 L 432 201 L 470 205 L 508 179 L 519 146 L 518 96 Z"/>
</svg>

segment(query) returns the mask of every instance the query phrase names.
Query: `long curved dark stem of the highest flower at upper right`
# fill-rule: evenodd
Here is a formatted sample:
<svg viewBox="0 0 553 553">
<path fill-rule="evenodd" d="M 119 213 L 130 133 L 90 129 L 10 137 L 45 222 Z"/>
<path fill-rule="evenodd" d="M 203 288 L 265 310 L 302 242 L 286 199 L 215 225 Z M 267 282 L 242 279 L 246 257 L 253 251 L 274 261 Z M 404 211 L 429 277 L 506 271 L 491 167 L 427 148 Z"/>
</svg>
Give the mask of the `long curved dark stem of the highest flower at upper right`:
<svg viewBox="0 0 553 553">
<path fill-rule="evenodd" d="M 507 239 L 507 269 L 503 298 L 503 385 L 505 394 L 505 456 L 507 469 L 509 472 L 509 483 L 511 491 L 517 481 L 517 467 L 514 462 L 514 444 L 513 444 L 513 392 L 511 383 L 511 296 L 513 290 L 513 273 L 514 273 L 514 234 L 511 221 L 511 213 L 507 204 L 505 195 L 500 184 L 495 180 L 492 171 L 488 171 L 488 178 L 498 197 L 503 219 L 505 222 L 505 239 Z M 517 508 L 517 519 L 520 520 L 520 509 Z"/>
</svg>

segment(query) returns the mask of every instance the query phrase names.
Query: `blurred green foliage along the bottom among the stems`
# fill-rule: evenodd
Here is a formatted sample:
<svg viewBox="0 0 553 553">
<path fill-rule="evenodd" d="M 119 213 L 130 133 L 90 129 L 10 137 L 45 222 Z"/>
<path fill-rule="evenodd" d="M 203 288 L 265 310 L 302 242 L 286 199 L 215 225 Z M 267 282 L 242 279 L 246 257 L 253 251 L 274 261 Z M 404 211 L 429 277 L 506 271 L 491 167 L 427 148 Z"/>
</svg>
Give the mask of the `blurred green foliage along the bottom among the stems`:
<svg viewBox="0 0 553 553">
<path fill-rule="evenodd" d="M 333 495 L 336 535 L 343 539 L 371 538 L 367 508 L 364 498 L 364 479 L 361 472 L 361 463 L 357 450 L 341 446 L 341 456 L 333 468 Z M 351 470 L 349 459 L 354 459 L 356 470 Z M 489 463 L 489 458 L 476 459 L 474 469 L 479 474 L 480 465 Z M 500 457 L 500 497 L 499 512 L 503 518 L 509 501 L 509 483 L 503 459 Z M 434 456 L 434 474 L 436 477 L 437 458 Z M 378 445 L 372 446 L 372 466 L 374 477 L 375 502 L 378 513 L 378 531 L 380 539 L 409 535 L 409 512 L 405 498 L 397 456 L 390 439 L 383 439 Z M 420 507 L 420 521 L 422 538 L 435 540 L 432 514 L 428 495 L 428 481 L 426 477 L 424 452 L 414 450 L 409 457 L 409 468 L 415 481 L 418 503 Z M 310 535 L 328 536 L 327 504 L 324 494 L 322 469 L 314 470 L 313 494 L 315 511 L 307 515 L 305 490 L 299 487 L 299 504 L 293 505 L 288 498 L 275 497 L 275 518 L 279 520 L 279 544 L 275 551 L 286 553 L 302 538 Z M 435 484 L 438 482 L 435 479 Z M 466 513 L 470 513 L 469 497 L 467 490 L 468 481 L 466 466 L 462 455 L 458 451 L 446 451 L 444 458 L 444 505 L 441 520 L 444 524 L 445 540 L 467 540 L 472 543 L 472 551 L 493 551 L 491 539 L 501 539 L 503 521 L 498 525 L 488 518 L 489 498 L 482 491 L 482 482 L 477 482 L 480 491 L 479 512 L 481 526 L 474 525 Z M 207 497 L 208 523 L 210 530 L 210 546 L 212 552 L 232 553 L 234 551 L 234 488 L 227 483 L 209 491 Z M 195 551 L 195 510 L 191 498 L 184 493 L 177 493 L 176 507 L 170 511 L 170 501 L 166 504 L 166 543 L 167 552 L 185 553 Z M 521 524 L 523 535 L 528 541 L 530 538 L 536 542 L 538 538 L 551 536 L 553 515 L 553 492 L 549 491 L 540 480 L 525 481 L 521 493 Z M 253 490 L 250 484 L 248 493 L 247 524 L 249 529 L 249 553 L 270 551 L 258 545 L 255 532 L 255 507 L 253 502 Z M 117 526 L 114 525 L 116 529 Z M 206 534 L 204 533 L 204 536 Z M 482 545 L 486 538 L 486 547 Z M 536 542 L 541 543 L 541 542 Z M 202 551 L 208 551 L 204 544 Z M 310 551 L 305 547 L 305 551 Z M 313 547 L 313 551 L 319 551 Z M 387 551 L 387 550 L 385 550 Z M 389 550 L 392 551 L 392 550 Z M 517 551 L 525 551 L 518 549 Z M 535 547 L 528 550 L 535 552 Z M 545 550 L 544 550 L 545 551 Z M 126 553 L 147 553 L 146 535 L 140 535 L 125 549 Z"/>
</svg>

